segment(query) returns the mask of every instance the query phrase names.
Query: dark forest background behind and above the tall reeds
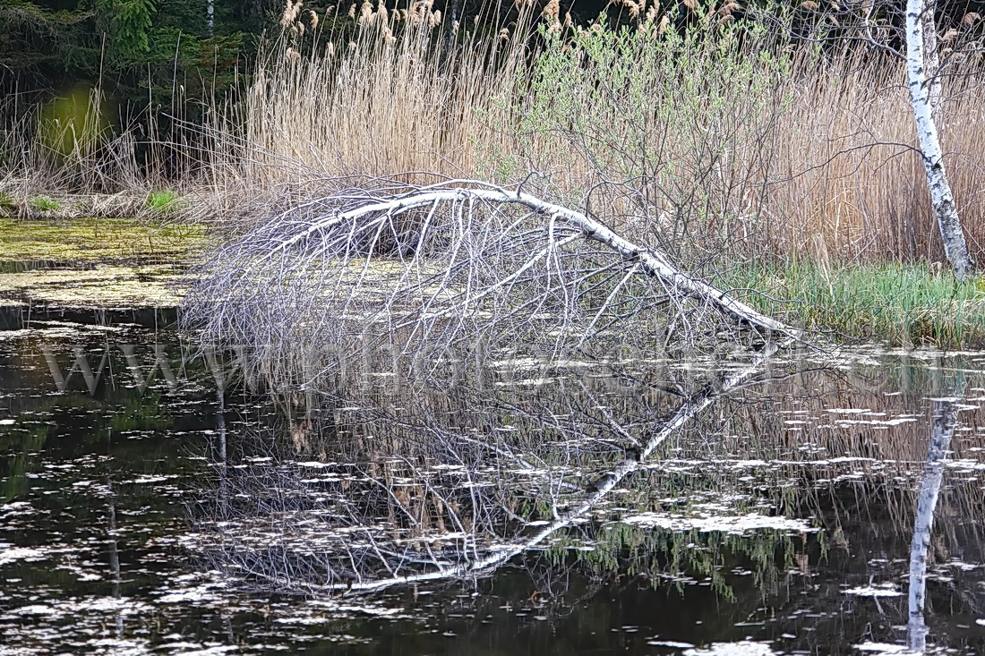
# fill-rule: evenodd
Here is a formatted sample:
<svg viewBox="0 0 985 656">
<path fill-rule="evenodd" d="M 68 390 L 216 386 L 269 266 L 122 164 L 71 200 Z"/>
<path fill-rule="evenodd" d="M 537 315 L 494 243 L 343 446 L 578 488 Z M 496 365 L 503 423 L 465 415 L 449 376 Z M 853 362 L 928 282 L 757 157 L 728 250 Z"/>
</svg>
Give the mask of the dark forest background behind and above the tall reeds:
<svg viewBox="0 0 985 656">
<path fill-rule="evenodd" d="M 303 9 L 324 17 L 322 31 L 339 33 L 353 28 L 352 2 L 314 0 Z M 826 5 L 848 9 L 840 0 L 820 4 L 821 11 Z M 903 0 L 894 4 L 898 15 Z M 463 24 L 481 15 L 490 30 L 508 24 L 514 11 L 512 0 L 497 0 L 492 8 L 485 0 L 434 0 L 433 6 Z M 662 11 L 673 7 L 663 3 Z M 0 113 L 17 117 L 38 102 L 98 86 L 115 108 L 114 121 L 180 106 L 183 120 L 197 122 L 202 107 L 254 70 L 253 58 L 279 32 L 283 10 L 283 0 L 0 0 Z M 985 0 L 939 7 L 956 17 L 969 11 L 985 13 Z M 603 12 L 619 21 L 622 13 L 619 3 L 606 0 L 561 2 L 561 15 L 567 12 L 581 23 Z"/>
</svg>

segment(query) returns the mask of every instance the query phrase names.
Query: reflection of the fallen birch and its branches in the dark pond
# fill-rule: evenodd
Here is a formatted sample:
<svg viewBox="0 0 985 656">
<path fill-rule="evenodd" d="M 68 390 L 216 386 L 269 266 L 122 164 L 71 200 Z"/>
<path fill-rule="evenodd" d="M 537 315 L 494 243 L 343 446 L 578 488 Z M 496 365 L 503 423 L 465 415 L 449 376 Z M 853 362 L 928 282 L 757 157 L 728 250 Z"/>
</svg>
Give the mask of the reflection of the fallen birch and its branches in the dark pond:
<svg viewBox="0 0 985 656">
<path fill-rule="evenodd" d="M 339 461 L 285 464 L 274 446 L 239 468 L 220 466 L 236 501 L 222 494 L 215 526 L 223 539 L 210 551 L 218 565 L 304 591 L 489 573 L 563 530 L 618 512 L 607 505 L 614 492 L 647 496 L 646 479 L 632 475 L 698 413 L 761 378 L 776 351 L 722 366 L 683 400 L 628 374 L 605 381 L 614 390 L 563 377 L 532 383 L 539 392 L 494 384 L 414 390 L 389 408 L 336 395 L 318 448 Z M 295 446 L 305 432 L 293 432 Z"/>
</svg>

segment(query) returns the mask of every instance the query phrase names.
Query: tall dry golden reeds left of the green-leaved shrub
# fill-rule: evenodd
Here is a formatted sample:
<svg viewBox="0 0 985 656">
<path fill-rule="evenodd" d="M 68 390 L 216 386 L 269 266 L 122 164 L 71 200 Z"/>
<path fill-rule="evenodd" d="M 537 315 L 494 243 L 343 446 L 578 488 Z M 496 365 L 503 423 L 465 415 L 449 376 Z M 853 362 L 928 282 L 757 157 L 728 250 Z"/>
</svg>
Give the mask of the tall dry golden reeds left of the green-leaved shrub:
<svg viewBox="0 0 985 656">
<path fill-rule="evenodd" d="M 511 110 L 526 44 L 508 33 L 466 31 L 429 2 L 366 1 L 323 18 L 289 2 L 282 26 L 245 98 L 212 126 L 221 195 L 340 176 L 475 176 L 512 137 L 496 116 Z"/>
</svg>

